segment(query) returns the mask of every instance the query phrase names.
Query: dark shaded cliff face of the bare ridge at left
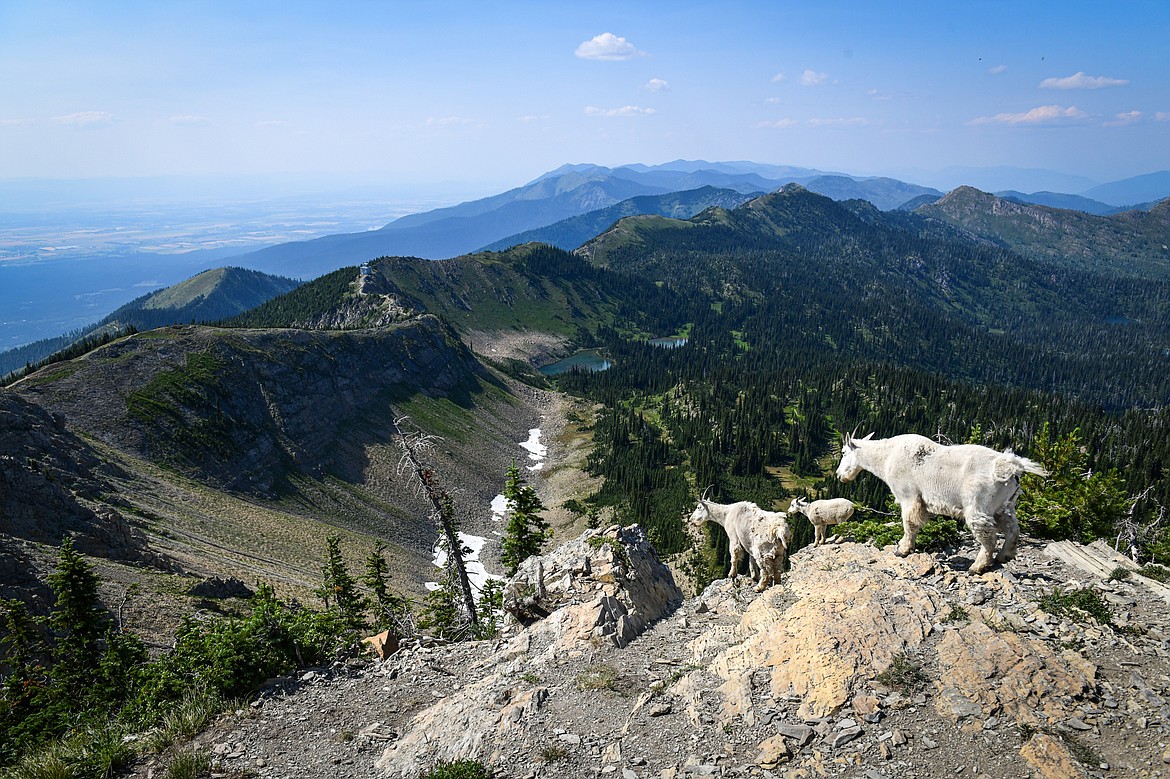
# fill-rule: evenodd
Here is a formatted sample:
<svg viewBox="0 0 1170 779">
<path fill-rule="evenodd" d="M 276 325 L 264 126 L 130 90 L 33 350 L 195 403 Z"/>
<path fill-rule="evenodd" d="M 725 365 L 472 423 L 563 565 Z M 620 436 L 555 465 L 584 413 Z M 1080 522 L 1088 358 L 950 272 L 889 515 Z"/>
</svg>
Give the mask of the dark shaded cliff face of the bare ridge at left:
<svg viewBox="0 0 1170 779">
<path fill-rule="evenodd" d="M 343 437 L 415 394 L 463 405 L 487 375 L 436 318 L 376 330 L 171 328 L 19 382 L 67 423 L 214 487 L 270 495 L 338 464 Z M 344 435 L 343 435 L 344 434 Z"/>
</svg>

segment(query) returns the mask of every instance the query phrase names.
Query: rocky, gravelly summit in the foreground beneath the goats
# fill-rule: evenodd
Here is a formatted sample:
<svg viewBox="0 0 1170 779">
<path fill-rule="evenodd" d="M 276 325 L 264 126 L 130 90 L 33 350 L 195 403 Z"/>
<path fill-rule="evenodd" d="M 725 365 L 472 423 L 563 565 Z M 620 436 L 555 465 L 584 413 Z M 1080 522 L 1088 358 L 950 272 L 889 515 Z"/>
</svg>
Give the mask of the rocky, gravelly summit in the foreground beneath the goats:
<svg viewBox="0 0 1170 779">
<path fill-rule="evenodd" d="M 1026 539 L 983 575 L 973 554 L 830 544 L 762 594 L 683 599 L 640 529 L 590 530 L 508 582 L 500 639 L 271 680 L 198 746 L 274 779 L 456 759 L 525 778 L 1170 774 L 1164 588 Z M 1106 611 L 1059 607 L 1083 592 Z"/>
</svg>

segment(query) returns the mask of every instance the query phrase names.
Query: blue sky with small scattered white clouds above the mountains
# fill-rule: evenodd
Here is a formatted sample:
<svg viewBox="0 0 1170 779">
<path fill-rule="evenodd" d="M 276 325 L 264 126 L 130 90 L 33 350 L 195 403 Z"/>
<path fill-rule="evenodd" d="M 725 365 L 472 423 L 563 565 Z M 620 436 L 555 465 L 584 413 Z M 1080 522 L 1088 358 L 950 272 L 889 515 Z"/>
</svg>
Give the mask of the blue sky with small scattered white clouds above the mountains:
<svg viewBox="0 0 1170 779">
<path fill-rule="evenodd" d="M 1170 2 L 0 0 L 0 179 L 1170 168 Z"/>
</svg>

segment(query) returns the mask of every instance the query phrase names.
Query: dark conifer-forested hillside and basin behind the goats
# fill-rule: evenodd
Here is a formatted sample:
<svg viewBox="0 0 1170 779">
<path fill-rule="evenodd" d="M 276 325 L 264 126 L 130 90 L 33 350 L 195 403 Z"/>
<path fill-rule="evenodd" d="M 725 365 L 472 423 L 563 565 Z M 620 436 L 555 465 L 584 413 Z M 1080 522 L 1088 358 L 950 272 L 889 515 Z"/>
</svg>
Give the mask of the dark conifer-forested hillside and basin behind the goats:
<svg viewBox="0 0 1170 779">
<path fill-rule="evenodd" d="M 687 221 L 622 220 L 578 254 L 686 302 L 663 329 L 687 332 L 684 346 L 606 332 L 615 367 L 559 380 L 606 408 L 594 502 L 668 551 L 688 545 L 677 517 L 701 485 L 883 510 L 876 480 L 831 477 L 854 427 L 1053 456 L 1064 442 L 1078 473 L 1112 474 L 1094 488 L 1116 495 L 1082 496 L 1061 532 L 1112 532 L 1122 509 L 1152 521 L 1170 501 L 1163 282 L 1044 264 L 799 188 Z"/>
</svg>

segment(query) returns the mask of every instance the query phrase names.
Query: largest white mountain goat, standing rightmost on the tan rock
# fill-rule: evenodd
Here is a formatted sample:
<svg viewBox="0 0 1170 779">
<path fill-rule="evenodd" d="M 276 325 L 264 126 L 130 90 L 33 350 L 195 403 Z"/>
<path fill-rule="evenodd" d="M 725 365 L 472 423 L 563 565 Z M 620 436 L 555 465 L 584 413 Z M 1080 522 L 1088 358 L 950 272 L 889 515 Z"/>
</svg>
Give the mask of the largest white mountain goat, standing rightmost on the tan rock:
<svg viewBox="0 0 1170 779">
<path fill-rule="evenodd" d="M 897 556 L 914 551 L 914 539 L 932 513 L 962 518 L 979 544 L 971 573 L 983 573 L 997 563 L 1016 557 L 1020 529 L 1016 502 L 1020 496 L 1020 474 L 1047 476 L 1039 463 L 1007 451 L 996 451 L 973 443 L 943 446 L 921 435 L 890 439 L 845 436 L 837 477 L 852 481 L 868 470 L 886 482 L 902 506 L 902 540 Z M 996 554 L 996 532 L 1004 535 L 1004 546 Z"/>
</svg>

